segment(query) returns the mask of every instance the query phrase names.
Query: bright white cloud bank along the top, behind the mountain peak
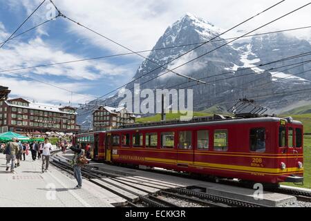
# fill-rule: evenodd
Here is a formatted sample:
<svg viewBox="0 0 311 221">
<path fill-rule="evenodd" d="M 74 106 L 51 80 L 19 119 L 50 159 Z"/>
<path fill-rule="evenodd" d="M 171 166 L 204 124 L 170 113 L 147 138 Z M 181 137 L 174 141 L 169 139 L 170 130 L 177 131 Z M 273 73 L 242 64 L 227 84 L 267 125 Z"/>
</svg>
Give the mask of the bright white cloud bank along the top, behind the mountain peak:
<svg viewBox="0 0 311 221">
<path fill-rule="evenodd" d="M 37 4 L 39 2 L 40 0 L 36 1 Z M 97 30 L 107 37 L 111 37 L 111 39 L 125 46 L 129 46 L 133 50 L 152 48 L 166 28 L 179 17 L 185 15 L 186 12 L 191 12 L 207 21 L 211 21 L 220 28 L 228 29 L 276 2 L 279 2 L 279 0 L 93 0 L 91 3 L 82 0 L 55 0 L 59 9 L 68 17 Z M 308 0 L 285 1 L 236 30 L 252 30 L 308 2 Z M 26 3 L 24 5 L 30 6 Z M 32 1 L 32 7 L 34 7 L 33 5 Z M 272 23 L 267 28 L 258 30 L 258 32 L 309 26 L 311 21 L 310 8 L 311 6 L 307 6 L 280 21 Z M 98 37 L 94 33 L 70 23 L 70 21 L 67 22 L 69 32 L 75 32 L 79 36 L 85 37 L 96 46 L 109 48 L 113 51 L 126 51 L 102 39 L 102 37 Z M 231 33 L 231 36 L 236 35 L 236 32 Z M 298 33 L 299 37 L 307 39 L 311 35 L 310 30 L 292 33 L 293 35 Z"/>
</svg>

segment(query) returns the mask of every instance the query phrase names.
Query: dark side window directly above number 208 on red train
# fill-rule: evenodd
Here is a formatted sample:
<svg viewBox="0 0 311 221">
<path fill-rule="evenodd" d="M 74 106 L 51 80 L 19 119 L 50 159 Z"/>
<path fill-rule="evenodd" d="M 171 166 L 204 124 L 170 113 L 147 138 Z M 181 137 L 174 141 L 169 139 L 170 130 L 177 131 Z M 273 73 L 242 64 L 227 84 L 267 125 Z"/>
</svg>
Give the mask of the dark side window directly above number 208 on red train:
<svg viewBox="0 0 311 221">
<path fill-rule="evenodd" d="M 265 128 L 252 128 L 249 134 L 250 151 L 265 152 Z"/>
</svg>

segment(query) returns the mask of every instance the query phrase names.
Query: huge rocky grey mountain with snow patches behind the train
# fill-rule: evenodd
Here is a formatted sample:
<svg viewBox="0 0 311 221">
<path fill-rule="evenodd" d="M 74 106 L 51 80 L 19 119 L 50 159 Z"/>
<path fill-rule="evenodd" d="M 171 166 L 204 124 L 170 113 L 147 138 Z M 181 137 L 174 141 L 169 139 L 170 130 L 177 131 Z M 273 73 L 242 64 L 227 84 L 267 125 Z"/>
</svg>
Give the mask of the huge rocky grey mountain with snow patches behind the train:
<svg viewBox="0 0 311 221">
<path fill-rule="evenodd" d="M 133 79 L 137 79 L 135 83 L 140 83 L 142 89 L 178 89 L 189 86 L 189 88 L 194 89 L 196 111 L 220 103 L 230 106 L 232 101 L 241 97 L 258 97 L 256 99 L 258 102 L 270 107 L 277 113 L 288 104 L 311 99 L 308 93 L 282 95 L 288 91 L 310 88 L 310 72 L 296 74 L 310 70 L 311 62 L 300 65 L 296 63 L 311 60 L 311 55 L 258 67 L 260 64 L 311 52 L 311 44 L 308 41 L 289 37 L 283 33 L 276 33 L 259 35 L 249 38 L 247 41 L 223 46 L 227 41 L 222 37 L 217 37 L 221 32 L 223 32 L 222 29 L 188 13 L 169 26 L 164 35 L 160 37 L 153 49 L 166 49 L 153 50 L 150 53 L 148 59 L 142 62 L 133 77 Z M 217 38 L 214 39 L 215 37 Z M 214 40 L 170 62 L 210 39 Z M 220 46 L 223 47 L 218 48 Z M 218 49 L 214 50 L 215 48 Z M 209 52 L 211 50 L 214 51 Z M 209 83 L 208 85 L 196 85 L 194 82 L 187 82 L 187 79 L 173 73 L 164 74 L 167 72 L 165 68 L 171 70 L 205 53 L 207 55 L 174 71 L 202 79 Z M 296 64 L 296 67 L 288 66 L 290 64 Z M 164 65 L 164 68 L 158 68 L 159 65 Z M 287 67 L 278 68 L 280 66 Z M 154 70 L 156 68 L 158 69 Z M 271 68 L 275 69 L 270 70 Z M 161 77 L 158 77 L 159 75 Z M 150 79 L 153 80 L 149 81 Z M 144 84 L 146 81 L 149 82 Z M 126 88 L 133 88 L 133 84 L 127 85 Z M 178 84 L 182 85 L 176 86 Z M 109 102 L 115 101 L 116 97 L 112 97 L 105 103 L 109 105 Z"/>
</svg>

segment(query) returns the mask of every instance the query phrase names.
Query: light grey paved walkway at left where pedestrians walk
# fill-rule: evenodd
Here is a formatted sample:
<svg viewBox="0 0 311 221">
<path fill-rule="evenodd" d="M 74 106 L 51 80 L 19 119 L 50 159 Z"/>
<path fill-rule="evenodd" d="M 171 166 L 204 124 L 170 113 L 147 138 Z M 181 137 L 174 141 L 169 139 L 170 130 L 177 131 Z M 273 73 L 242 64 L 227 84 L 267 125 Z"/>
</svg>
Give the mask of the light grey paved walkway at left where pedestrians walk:
<svg viewBox="0 0 311 221">
<path fill-rule="evenodd" d="M 6 171 L 6 155 L 0 154 L 0 207 L 111 207 L 110 198 L 98 195 L 100 187 L 83 180 L 83 189 L 74 189 L 77 182 L 50 165 L 41 173 L 41 160 L 31 156 L 21 162 L 16 173 Z"/>
</svg>

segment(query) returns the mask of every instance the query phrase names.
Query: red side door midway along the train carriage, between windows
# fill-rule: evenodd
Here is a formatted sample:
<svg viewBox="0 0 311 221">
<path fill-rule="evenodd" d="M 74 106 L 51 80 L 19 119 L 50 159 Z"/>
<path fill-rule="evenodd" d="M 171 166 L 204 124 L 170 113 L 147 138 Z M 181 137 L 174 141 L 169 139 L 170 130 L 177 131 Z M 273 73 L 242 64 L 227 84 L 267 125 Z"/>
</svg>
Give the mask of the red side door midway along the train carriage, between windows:
<svg viewBox="0 0 311 221">
<path fill-rule="evenodd" d="M 177 163 L 180 167 L 194 164 L 194 132 L 178 131 Z"/>
</svg>

